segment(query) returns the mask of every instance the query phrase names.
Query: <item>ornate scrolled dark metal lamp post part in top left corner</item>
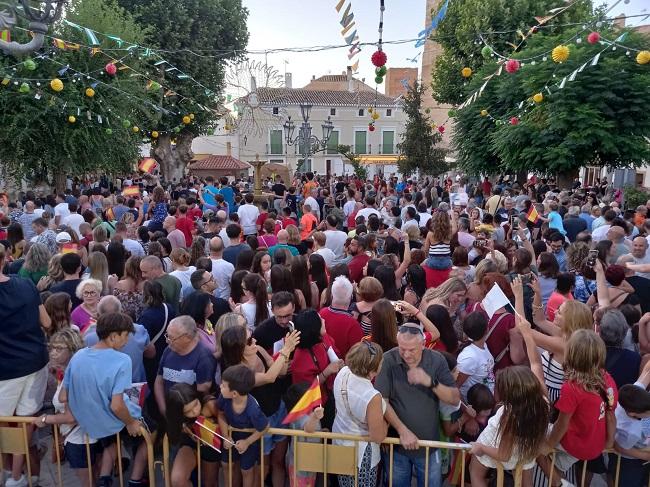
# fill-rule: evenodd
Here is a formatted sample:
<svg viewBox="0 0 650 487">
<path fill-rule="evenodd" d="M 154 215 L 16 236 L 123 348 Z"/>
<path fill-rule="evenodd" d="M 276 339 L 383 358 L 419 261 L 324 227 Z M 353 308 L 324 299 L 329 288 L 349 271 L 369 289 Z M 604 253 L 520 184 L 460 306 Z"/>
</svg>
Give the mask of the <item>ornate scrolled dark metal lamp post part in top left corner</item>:
<svg viewBox="0 0 650 487">
<path fill-rule="evenodd" d="M 0 50 L 13 56 L 39 50 L 43 46 L 50 24 L 59 19 L 65 4 L 65 0 L 19 1 L 20 6 L 15 7 L 13 12 L 0 10 L 0 30 L 11 30 L 16 25 L 16 15 L 20 15 L 29 20 L 28 29 L 33 33 L 32 39 L 26 44 L 0 40 Z"/>
</svg>

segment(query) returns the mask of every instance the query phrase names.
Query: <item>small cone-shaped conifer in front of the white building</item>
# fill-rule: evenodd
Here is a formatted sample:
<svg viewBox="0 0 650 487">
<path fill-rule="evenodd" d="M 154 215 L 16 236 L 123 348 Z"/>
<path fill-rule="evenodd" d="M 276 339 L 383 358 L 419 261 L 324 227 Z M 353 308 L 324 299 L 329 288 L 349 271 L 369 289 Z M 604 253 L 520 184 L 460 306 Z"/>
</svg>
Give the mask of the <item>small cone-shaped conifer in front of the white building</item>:
<svg viewBox="0 0 650 487">
<path fill-rule="evenodd" d="M 426 88 L 417 81 L 409 87 L 402 100 L 404 113 L 408 117 L 402 141 L 397 144 L 400 158 L 397 162 L 402 174 L 438 174 L 447 170 L 445 162 L 445 149 L 436 147 L 442 140 L 442 135 L 433 132 L 431 119 L 422 113 L 422 95 Z"/>
</svg>

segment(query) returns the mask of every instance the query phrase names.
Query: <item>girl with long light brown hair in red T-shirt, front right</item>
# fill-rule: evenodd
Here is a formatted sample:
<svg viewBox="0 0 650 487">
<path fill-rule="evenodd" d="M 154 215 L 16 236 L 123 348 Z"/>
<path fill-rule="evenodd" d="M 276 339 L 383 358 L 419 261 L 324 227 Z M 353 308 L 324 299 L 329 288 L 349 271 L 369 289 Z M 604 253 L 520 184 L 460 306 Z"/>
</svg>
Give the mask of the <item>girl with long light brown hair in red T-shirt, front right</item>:
<svg viewBox="0 0 650 487">
<path fill-rule="evenodd" d="M 611 448 L 616 430 L 614 409 L 616 384 L 604 370 L 605 344 L 591 330 L 576 330 L 566 344 L 565 382 L 555 403 L 558 419 L 537 463 L 552 485 L 566 485 L 560 472 L 566 472 L 578 460 L 592 460 Z M 553 448 L 555 471 L 546 456 Z M 559 471 L 558 471 L 559 470 Z"/>
</svg>

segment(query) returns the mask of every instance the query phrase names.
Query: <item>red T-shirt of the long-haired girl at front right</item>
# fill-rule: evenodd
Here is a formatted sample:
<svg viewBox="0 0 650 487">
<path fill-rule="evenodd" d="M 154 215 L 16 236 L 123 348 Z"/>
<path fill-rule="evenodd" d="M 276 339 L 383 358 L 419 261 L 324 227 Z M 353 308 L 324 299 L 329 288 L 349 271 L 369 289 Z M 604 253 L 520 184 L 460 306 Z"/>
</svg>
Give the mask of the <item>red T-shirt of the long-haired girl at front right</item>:
<svg viewBox="0 0 650 487">
<path fill-rule="evenodd" d="M 603 371 L 606 392 L 612 410 L 616 409 L 618 391 L 614 379 Z M 575 382 L 565 382 L 555 407 L 561 413 L 571 415 L 569 429 L 560 440 L 562 448 L 578 460 L 592 460 L 605 448 L 607 420 L 605 403 L 601 395 L 587 392 Z"/>
</svg>

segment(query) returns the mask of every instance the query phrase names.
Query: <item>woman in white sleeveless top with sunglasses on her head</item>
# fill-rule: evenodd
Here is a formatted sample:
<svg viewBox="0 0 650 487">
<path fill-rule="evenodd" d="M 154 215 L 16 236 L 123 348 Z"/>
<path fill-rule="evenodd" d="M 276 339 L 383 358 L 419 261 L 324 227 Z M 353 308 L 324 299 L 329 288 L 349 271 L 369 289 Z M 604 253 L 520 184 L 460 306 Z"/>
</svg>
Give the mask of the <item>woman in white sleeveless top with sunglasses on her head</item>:
<svg viewBox="0 0 650 487">
<path fill-rule="evenodd" d="M 379 374 L 383 352 L 376 343 L 362 341 L 345 356 L 345 363 L 334 379 L 336 417 L 333 433 L 369 437 L 372 443 L 358 443 L 358 484 L 374 487 L 377 482 L 379 443 L 388 433 L 384 420 L 386 404 L 372 385 Z M 354 445 L 352 441 L 334 440 L 335 445 Z M 354 476 L 339 475 L 339 486 L 355 485 Z"/>
</svg>

